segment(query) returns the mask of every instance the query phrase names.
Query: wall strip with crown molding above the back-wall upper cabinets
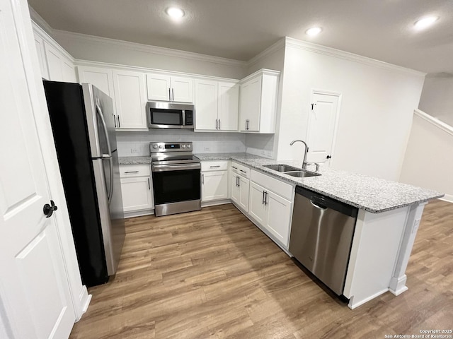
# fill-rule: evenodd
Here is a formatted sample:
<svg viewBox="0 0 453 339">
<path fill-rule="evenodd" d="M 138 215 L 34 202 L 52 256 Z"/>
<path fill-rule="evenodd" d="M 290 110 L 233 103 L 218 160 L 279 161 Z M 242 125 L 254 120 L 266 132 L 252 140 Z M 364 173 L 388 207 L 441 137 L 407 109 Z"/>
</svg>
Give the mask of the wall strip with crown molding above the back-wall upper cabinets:
<svg viewBox="0 0 453 339">
<path fill-rule="evenodd" d="M 246 63 L 204 54 L 52 30 L 74 59 L 241 79 Z"/>
</svg>

